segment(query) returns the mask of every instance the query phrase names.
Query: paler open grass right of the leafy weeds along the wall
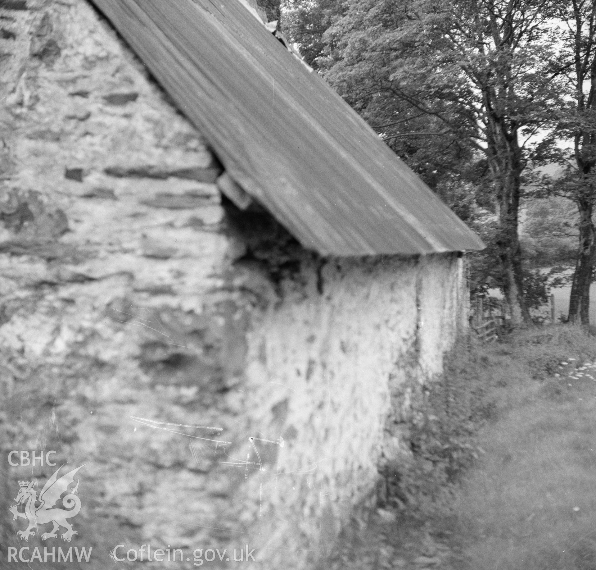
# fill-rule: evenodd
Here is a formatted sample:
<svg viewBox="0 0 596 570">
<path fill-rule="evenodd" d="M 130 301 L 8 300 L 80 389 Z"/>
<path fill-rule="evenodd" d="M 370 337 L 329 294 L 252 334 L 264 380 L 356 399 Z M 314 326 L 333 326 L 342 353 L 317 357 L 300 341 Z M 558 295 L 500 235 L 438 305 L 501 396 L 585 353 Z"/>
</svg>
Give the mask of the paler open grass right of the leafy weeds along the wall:
<svg viewBox="0 0 596 570">
<path fill-rule="evenodd" d="M 496 417 L 450 505 L 457 567 L 596 568 L 596 339 L 559 326 L 478 352 Z"/>
</svg>

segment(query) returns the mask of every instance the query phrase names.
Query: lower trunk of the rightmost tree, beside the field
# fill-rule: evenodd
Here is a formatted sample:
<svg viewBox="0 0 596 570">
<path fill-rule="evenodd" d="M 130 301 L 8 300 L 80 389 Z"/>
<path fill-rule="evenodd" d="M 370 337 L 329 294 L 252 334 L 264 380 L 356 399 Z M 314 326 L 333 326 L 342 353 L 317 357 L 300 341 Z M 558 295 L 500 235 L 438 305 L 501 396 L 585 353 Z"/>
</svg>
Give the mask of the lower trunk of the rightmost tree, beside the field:
<svg viewBox="0 0 596 570">
<path fill-rule="evenodd" d="M 596 241 L 592 224 L 592 200 L 579 199 L 579 255 L 573 272 L 569 299 L 569 323 L 589 324 L 590 286 L 594 272 Z"/>
</svg>

